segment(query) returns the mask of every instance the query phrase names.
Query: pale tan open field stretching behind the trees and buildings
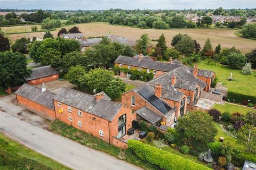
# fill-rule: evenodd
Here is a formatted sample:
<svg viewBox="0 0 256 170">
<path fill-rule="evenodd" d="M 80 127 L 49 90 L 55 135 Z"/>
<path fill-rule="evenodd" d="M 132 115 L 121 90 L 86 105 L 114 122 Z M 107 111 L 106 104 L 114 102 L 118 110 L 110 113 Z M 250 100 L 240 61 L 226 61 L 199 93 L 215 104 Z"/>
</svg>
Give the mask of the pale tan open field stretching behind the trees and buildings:
<svg viewBox="0 0 256 170">
<path fill-rule="evenodd" d="M 66 29 L 73 27 L 74 25 L 67 25 L 63 26 Z M 174 35 L 177 33 L 187 33 L 193 39 L 196 39 L 203 47 L 205 40 L 209 37 L 211 39 L 213 47 L 221 44 L 223 47 L 233 47 L 240 49 L 242 53 L 247 53 L 250 50 L 256 47 L 256 41 L 251 39 L 241 38 L 235 35 L 236 30 L 230 29 L 169 29 L 169 30 L 156 30 L 156 29 L 139 29 L 139 28 L 132 28 L 132 27 L 123 27 L 118 25 L 110 25 L 107 23 L 99 23 L 99 22 L 92 22 L 92 23 L 81 23 L 76 24 L 79 27 L 79 30 L 82 31 L 85 37 L 92 37 L 92 36 L 105 36 L 108 33 L 118 36 L 124 36 L 127 38 L 131 38 L 136 40 L 142 35 L 143 33 L 148 33 L 150 39 L 158 39 L 159 36 L 164 33 L 167 46 L 171 47 L 171 40 Z M 30 31 L 31 25 L 25 26 L 17 26 L 17 27 L 3 27 L 2 30 L 4 32 L 23 32 L 23 31 Z M 38 29 L 40 27 L 38 26 Z M 57 36 L 58 28 L 55 31 L 51 31 L 54 36 Z M 43 38 L 44 32 L 33 32 L 29 33 L 30 38 L 34 36 L 37 38 Z M 9 35 L 12 41 L 21 37 L 27 37 L 27 33 L 20 33 Z M 153 45 L 156 45 L 156 41 L 152 42 Z"/>
</svg>

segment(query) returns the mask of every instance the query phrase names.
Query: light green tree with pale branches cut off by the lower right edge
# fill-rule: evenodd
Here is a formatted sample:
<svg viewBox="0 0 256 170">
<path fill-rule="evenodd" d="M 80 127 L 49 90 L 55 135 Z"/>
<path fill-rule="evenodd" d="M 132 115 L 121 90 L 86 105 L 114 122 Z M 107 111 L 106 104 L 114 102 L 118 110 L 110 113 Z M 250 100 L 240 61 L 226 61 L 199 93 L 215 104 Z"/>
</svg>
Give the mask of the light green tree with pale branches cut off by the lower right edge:
<svg viewBox="0 0 256 170">
<path fill-rule="evenodd" d="M 253 124 L 245 124 L 237 132 L 237 140 L 246 146 L 249 153 L 256 152 L 256 126 Z"/>
</svg>

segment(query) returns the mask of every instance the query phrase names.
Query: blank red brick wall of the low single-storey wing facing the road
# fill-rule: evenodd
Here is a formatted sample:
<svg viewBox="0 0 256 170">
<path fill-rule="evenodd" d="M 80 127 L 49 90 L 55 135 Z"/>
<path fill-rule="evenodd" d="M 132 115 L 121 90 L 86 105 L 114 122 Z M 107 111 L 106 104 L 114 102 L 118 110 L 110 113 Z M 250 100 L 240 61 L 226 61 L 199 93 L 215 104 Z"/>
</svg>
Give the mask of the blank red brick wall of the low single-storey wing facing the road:
<svg viewBox="0 0 256 170">
<path fill-rule="evenodd" d="M 17 102 L 23 106 L 28 107 L 29 109 L 31 109 L 32 111 L 35 111 L 36 113 L 38 113 L 39 115 L 50 119 L 50 120 L 54 120 L 55 119 L 55 112 L 54 110 L 47 108 L 43 105 L 40 105 L 38 103 L 36 103 L 35 101 L 31 101 L 29 99 L 26 99 L 24 97 L 21 97 L 19 95 L 17 96 Z"/>
</svg>

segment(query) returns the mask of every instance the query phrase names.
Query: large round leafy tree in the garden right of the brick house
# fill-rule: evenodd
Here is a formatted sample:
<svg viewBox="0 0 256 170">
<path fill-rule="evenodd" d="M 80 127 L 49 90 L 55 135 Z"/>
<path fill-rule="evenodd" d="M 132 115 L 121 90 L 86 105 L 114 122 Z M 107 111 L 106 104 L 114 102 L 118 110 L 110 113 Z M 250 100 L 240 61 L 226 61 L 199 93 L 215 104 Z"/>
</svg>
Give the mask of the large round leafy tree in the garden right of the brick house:
<svg viewBox="0 0 256 170">
<path fill-rule="evenodd" d="M 189 145 L 191 149 L 202 152 L 214 141 L 217 129 L 213 125 L 212 116 L 205 112 L 195 111 L 180 118 L 177 126 L 181 145 Z"/>
</svg>

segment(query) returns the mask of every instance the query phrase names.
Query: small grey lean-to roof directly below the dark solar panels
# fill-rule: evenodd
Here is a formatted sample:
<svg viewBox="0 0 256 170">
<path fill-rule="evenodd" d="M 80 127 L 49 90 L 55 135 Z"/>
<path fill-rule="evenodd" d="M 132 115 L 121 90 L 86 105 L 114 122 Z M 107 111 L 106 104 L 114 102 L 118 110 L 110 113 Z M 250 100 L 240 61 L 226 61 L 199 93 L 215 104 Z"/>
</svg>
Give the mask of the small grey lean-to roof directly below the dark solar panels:
<svg viewBox="0 0 256 170">
<path fill-rule="evenodd" d="M 136 113 L 152 124 L 155 124 L 162 119 L 162 116 L 156 114 L 154 111 L 151 111 L 146 106 L 141 107 Z"/>
</svg>

